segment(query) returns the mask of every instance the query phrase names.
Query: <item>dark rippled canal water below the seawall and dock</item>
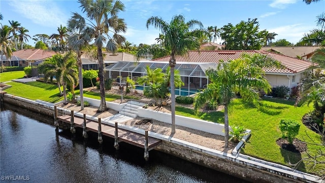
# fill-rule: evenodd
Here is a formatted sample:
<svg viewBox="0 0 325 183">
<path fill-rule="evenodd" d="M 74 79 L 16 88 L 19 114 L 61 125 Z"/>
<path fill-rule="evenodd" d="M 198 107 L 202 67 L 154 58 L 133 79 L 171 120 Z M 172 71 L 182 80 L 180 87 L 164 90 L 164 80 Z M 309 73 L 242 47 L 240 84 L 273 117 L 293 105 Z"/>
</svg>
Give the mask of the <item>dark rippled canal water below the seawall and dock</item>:
<svg viewBox="0 0 325 183">
<path fill-rule="evenodd" d="M 173 156 L 82 131 L 55 131 L 53 118 L 5 105 L 0 112 L 0 182 L 246 182 Z M 15 112 L 20 111 L 24 114 Z"/>
</svg>

